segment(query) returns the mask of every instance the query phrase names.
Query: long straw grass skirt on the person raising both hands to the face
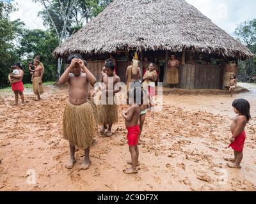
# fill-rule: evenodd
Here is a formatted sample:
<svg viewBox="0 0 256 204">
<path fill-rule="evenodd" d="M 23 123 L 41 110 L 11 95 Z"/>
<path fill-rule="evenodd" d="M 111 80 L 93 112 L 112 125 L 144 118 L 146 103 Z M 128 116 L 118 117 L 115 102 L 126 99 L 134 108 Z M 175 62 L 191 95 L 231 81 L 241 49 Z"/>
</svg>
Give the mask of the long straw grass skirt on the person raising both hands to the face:
<svg viewBox="0 0 256 204">
<path fill-rule="evenodd" d="M 63 136 L 74 147 L 87 149 L 93 142 L 95 119 L 92 105 L 76 106 L 67 102 L 63 115 Z"/>
</svg>

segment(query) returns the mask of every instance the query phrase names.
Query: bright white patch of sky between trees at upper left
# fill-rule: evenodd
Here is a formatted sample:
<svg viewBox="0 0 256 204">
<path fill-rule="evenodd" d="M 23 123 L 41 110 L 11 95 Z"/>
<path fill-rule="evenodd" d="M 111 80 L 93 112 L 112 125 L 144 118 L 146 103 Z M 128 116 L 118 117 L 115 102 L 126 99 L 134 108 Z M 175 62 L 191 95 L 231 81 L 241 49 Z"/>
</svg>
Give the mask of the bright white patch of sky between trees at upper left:
<svg viewBox="0 0 256 204">
<path fill-rule="evenodd" d="M 42 11 L 42 6 L 39 3 L 34 3 L 32 0 L 15 0 L 18 4 L 19 11 L 12 13 L 11 20 L 20 18 L 27 29 L 42 29 L 46 27 L 43 25 L 42 18 L 38 17 L 38 11 Z"/>
</svg>

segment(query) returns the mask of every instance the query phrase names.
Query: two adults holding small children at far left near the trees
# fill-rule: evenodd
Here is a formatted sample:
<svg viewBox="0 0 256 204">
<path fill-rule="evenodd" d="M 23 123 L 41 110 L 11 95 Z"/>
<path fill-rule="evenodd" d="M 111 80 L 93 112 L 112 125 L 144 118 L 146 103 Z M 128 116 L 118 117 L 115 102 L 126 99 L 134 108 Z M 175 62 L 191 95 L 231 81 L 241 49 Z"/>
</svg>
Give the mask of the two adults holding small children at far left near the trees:
<svg viewBox="0 0 256 204">
<path fill-rule="evenodd" d="M 29 62 L 29 71 L 31 74 L 31 82 L 33 83 L 33 92 L 37 96 L 35 100 L 40 100 L 40 94 L 44 93 L 42 80 L 44 77 L 44 64 L 40 62 L 40 57 L 37 55 L 34 62 Z M 19 96 L 21 98 L 22 105 L 25 105 L 25 97 L 23 94 L 24 85 L 22 79 L 24 77 L 24 68 L 20 62 L 16 62 L 12 68 L 8 77 L 10 84 L 12 85 L 12 91 L 15 94 L 15 103 L 18 105 Z"/>
</svg>

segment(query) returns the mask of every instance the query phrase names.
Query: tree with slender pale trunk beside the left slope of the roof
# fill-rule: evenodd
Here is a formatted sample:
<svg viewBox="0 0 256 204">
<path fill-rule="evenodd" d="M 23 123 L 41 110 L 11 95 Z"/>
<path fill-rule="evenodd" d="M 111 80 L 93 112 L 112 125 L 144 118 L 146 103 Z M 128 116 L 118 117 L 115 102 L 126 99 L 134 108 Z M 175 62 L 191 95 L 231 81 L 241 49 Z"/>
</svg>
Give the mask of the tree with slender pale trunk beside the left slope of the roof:
<svg viewBox="0 0 256 204">
<path fill-rule="evenodd" d="M 41 3 L 40 15 L 44 25 L 58 36 L 59 45 L 76 33 L 90 19 L 97 16 L 112 0 L 33 0 Z M 52 50 L 53 51 L 53 50 Z M 61 73 L 62 59 L 58 59 L 57 80 Z"/>
</svg>

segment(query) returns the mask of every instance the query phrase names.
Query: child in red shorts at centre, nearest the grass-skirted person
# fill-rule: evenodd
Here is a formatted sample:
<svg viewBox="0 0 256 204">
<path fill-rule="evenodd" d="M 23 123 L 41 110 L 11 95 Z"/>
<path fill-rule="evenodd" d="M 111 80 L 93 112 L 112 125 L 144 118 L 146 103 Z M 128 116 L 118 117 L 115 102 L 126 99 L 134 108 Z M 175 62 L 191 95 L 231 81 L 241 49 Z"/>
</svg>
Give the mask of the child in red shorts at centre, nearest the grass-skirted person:
<svg viewBox="0 0 256 204">
<path fill-rule="evenodd" d="M 131 168 L 127 168 L 124 170 L 126 174 L 138 173 L 137 166 L 139 165 L 139 149 L 138 149 L 138 140 L 140 136 L 140 105 L 143 104 L 143 91 L 141 87 L 134 87 L 131 91 L 129 91 L 129 105 L 131 108 L 127 110 L 127 112 L 123 113 L 123 117 L 125 119 L 125 126 L 128 130 L 127 140 L 129 145 L 129 150 L 131 153 L 131 162 L 128 164 L 132 164 Z"/>
</svg>

